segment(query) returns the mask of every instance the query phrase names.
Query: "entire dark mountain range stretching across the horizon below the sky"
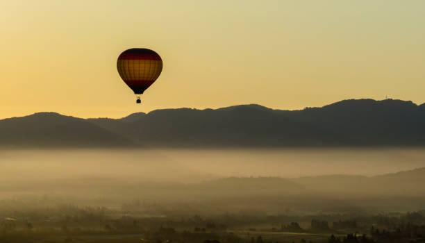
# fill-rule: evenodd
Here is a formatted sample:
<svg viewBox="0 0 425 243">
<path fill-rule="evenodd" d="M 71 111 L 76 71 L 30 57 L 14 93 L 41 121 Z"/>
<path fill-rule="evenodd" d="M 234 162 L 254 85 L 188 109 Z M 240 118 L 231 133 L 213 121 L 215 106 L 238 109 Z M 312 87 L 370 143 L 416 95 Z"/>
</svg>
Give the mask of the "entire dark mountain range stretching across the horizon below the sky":
<svg viewBox="0 0 425 243">
<path fill-rule="evenodd" d="M 51 112 L 0 120 L 3 146 L 424 146 L 425 105 L 351 99 L 322 108 L 153 110 L 122 119 Z"/>
</svg>

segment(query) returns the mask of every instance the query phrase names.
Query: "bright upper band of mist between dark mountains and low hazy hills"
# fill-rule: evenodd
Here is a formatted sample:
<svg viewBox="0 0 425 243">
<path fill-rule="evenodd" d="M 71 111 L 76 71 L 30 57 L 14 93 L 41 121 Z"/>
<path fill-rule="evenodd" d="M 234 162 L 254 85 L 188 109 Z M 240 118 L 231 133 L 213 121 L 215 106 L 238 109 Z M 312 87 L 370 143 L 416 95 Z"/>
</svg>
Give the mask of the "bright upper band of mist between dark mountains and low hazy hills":
<svg viewBox="0 0 425 243">
<path fill-rule="evenodd" d="M 230 176 L 375 176 L 425 166 L 425 149 L 0 151 L 2 180 L 78 177 L 199 182 Z"/>
</svg>

